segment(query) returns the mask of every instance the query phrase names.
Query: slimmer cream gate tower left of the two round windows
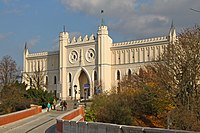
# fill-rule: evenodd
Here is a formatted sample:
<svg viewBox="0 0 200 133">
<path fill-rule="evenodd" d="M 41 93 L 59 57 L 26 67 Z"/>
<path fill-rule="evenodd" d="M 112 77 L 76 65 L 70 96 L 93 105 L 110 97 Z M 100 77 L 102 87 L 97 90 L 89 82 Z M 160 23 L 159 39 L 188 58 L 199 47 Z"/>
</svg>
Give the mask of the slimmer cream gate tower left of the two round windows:
<svg viewBox="0 0 200 133">
<path fill-rule="evenodd" d="M 69 33 L 60 32 L 59 36 L 59 47 L 60 47 L 60 83 L 59 83 L 59 91 L 61 93 L 61 99 L 66 99 L 67 94 L 67 83 L 66 83 L 66 67 L 67 67 L 67 49 L 65 46 L 69 43 Z"/>
</svg>

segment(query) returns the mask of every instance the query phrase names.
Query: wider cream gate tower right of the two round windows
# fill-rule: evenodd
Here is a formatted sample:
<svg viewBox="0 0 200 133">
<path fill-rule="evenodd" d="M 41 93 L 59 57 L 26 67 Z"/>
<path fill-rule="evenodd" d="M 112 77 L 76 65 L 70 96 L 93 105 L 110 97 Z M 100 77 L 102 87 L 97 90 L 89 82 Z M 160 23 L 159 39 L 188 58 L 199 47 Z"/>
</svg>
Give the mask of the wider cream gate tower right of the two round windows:
<svg viewBox="0 0 200 133">
<path fill-rule="evenodd" d="M 111 46 L 108 27 L 101 25 L 97 33 L 97 71 L 98 84 L 103 91 L 111 89 Z"/>
</svg>

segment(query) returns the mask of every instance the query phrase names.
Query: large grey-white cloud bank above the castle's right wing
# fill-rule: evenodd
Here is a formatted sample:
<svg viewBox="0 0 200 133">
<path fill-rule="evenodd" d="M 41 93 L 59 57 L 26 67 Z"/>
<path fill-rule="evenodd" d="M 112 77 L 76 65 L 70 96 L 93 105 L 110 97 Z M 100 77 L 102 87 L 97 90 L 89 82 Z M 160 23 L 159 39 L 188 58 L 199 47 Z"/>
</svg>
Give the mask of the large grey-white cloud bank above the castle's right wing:
<svg viewBox="0 0 200 133">
<path fill-rule="evenodd" d="M 200 22 L 200 0 L 60 0 L 67 8 L 92 16 L 104 10 L 106 24 L 114 32 L 136 38 L 166 35 L 173 20 L 177 29 Z"/>
</svg>

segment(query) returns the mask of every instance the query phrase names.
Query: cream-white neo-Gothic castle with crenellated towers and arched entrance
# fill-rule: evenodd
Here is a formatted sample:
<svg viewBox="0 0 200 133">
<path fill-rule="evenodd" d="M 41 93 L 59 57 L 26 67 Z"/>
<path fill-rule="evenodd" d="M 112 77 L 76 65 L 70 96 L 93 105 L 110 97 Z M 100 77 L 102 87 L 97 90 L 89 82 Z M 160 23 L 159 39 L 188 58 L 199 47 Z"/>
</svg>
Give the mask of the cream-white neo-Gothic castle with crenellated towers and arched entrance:
<svg viewBox="0 0 200 133">
<path fill-rule="evenodd" d="M 44 89 L 54 91 L 61 99 L 91 98 L 158 59 L 175 39 L 173 24 L 167 36 L 118 43 L 113 43 L 105 25 L 99 26 L 96 36 L 71 40 L 64 31 L 60 32 L 59 51 L 29 53 L 25 46 L 23 72 L 31 75 L 42 68 L 42 82 L 47 85 Z M 23 80 L 28 88 L 32 86 L 32 80 Z"/>
</svg>

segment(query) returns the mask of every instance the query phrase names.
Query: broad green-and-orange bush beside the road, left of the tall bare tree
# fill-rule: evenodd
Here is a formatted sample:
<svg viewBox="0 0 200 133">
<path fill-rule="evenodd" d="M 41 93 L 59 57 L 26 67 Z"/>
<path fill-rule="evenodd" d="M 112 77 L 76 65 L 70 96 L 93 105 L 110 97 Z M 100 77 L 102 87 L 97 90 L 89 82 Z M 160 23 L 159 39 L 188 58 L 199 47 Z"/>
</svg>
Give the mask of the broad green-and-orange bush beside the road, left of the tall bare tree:
<svg viewBox="0 0 200 133">
<path fill-rule="evenodd" d="M 167 127 L 167 112 L 173 108 L 165 88 L 160 88 L 156 71 L 151 66 L 140 69 L 120 83 L 120 92 L 97 95 L 91 105 L 91 117 L 101 122 Z M 88 116 L 89 114 L 87 114 Z"/>
</svg>

